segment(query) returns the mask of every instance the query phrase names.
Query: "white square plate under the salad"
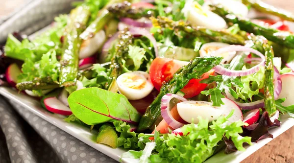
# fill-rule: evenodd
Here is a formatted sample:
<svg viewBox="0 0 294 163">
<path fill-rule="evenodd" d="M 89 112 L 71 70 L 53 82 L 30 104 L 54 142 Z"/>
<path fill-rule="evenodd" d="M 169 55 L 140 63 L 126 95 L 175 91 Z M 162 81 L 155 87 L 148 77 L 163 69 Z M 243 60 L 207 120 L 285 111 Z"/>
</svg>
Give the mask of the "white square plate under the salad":
<svg viewBox="0 0 294 163">
<path fill-rule="evenodd" d="M 89 132 L 89 128 L 79 126 L 74 123 L 65 122 L 63 120 L 65 116 L 49 113 L 45 109 L 41 108 L 39 101 L 32 97 L 24 94 L 19 94 L 17 91 L 7 87 L 0 87 L 0 94 L 24 106 L 24 108 L 28 109 L 30 112 L 36 114 L 37 116 L 40 116 L 44 120 L 47 120 L 51 124 L 60 128 L 61 130 L 64 130 L 65 132 L 71 134 L 73 137 L 83 141 L 84 143 L 90 145 L 91 147 L 97 149 L 98 151 L 117 161 L 120 161 L 120 156 L 123 152 L 126 152 L 126 150 L 121 148 L 113 149 L 106 145 L 96 143 L 95 139 L 98 134 L 97 131 Z M 270 130 L 270 134 L 273 135 L 273 138 L 276 138 L 277 136 L 294 126 L 294 118 L 291 118 L 288 115 L 281 116 L 280 120 L 281 126 L 272 128 Z M 240 163 L 246 157 L 257 151 L 259 148 L 261 148 L 271 140 L 272 139 L 270 138 L 260 140 L 252 146 L 247 146 L 246 151 L 244 152 L 237 151 L 231 154 L 224 154 L 223 151 L 220 151 L 219 153 L 208 159 L 205 163 Z M 135 163 L 134 160 L 131 159 L 124 159 L 123 162 Z"/>
</svg>

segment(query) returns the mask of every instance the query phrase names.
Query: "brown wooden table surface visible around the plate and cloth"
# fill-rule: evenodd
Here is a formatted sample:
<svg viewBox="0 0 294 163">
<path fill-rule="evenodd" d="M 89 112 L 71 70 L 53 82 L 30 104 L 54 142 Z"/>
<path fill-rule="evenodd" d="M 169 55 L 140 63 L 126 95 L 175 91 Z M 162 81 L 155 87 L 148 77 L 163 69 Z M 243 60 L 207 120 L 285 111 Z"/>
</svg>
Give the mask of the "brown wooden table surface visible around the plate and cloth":
<svg viewBox="0 0 294 163">
<path fill-rule="evenodd" d="M 15 4 L 25 0 L 0 0 L 0 16 L 14 9 Z M 263 0 L 288 11 L 294 10 L 294 0 Z M 294 163 L 294 127 L 270 141 L 264 147 L 246 158 L 242 163 Z"/>
</svg>

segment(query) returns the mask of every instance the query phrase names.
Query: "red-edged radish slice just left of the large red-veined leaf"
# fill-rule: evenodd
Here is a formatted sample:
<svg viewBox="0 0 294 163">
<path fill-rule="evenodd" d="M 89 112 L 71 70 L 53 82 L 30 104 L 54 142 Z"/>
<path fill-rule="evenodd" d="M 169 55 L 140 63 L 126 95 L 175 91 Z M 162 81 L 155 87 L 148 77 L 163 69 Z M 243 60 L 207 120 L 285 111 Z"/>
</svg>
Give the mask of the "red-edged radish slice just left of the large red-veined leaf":
<svg viewBox="0 0 294 163">
<path fill-rule="evenodd" d="M 57 113 L 64 116 L 70 116 L 73 114 L 71 109 L 65 106 L 56 97 L 48 97 L 44 99 L 44 104 L 46 109 L 50 112 Z"/>
</svg>

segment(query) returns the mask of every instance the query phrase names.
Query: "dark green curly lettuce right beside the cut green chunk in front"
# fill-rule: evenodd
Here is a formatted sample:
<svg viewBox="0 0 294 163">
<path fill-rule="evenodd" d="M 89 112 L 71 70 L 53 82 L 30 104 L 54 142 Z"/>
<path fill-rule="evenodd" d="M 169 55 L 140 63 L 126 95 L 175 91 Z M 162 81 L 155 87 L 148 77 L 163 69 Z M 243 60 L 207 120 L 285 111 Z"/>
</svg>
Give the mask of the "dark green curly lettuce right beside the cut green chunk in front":
<svg viewBox="0 0 294 163">
<path fill-rule="evenodd" d="M 147 142 L 150 142 L 149 137 L 145 134 L 136 134 L 135 132 L 130 132 L 130 125 L 123 121 L 113 122 L 115 129 L 119 132 L 119 147 L 123 146 L 125 149 L 132 150 L 143 150 Z"/>
</svg>

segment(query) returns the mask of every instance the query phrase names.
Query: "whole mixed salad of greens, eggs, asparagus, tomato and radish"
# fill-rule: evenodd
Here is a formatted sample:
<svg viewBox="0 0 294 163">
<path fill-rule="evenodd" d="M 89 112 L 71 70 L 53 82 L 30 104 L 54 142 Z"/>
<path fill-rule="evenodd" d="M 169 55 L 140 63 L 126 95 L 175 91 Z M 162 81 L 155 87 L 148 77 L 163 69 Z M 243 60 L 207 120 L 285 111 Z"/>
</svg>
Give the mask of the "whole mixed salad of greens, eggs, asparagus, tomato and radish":
<svg viewBox="0 0 294 163">
<path fill-rule="evenodd" d="M 97 129 L 122 158 L 201 163 L 294 117 L 291 13 L 260 0 L 73 5 L 35 38 L 8 36 L 0 85 Z"/>
</svg>

